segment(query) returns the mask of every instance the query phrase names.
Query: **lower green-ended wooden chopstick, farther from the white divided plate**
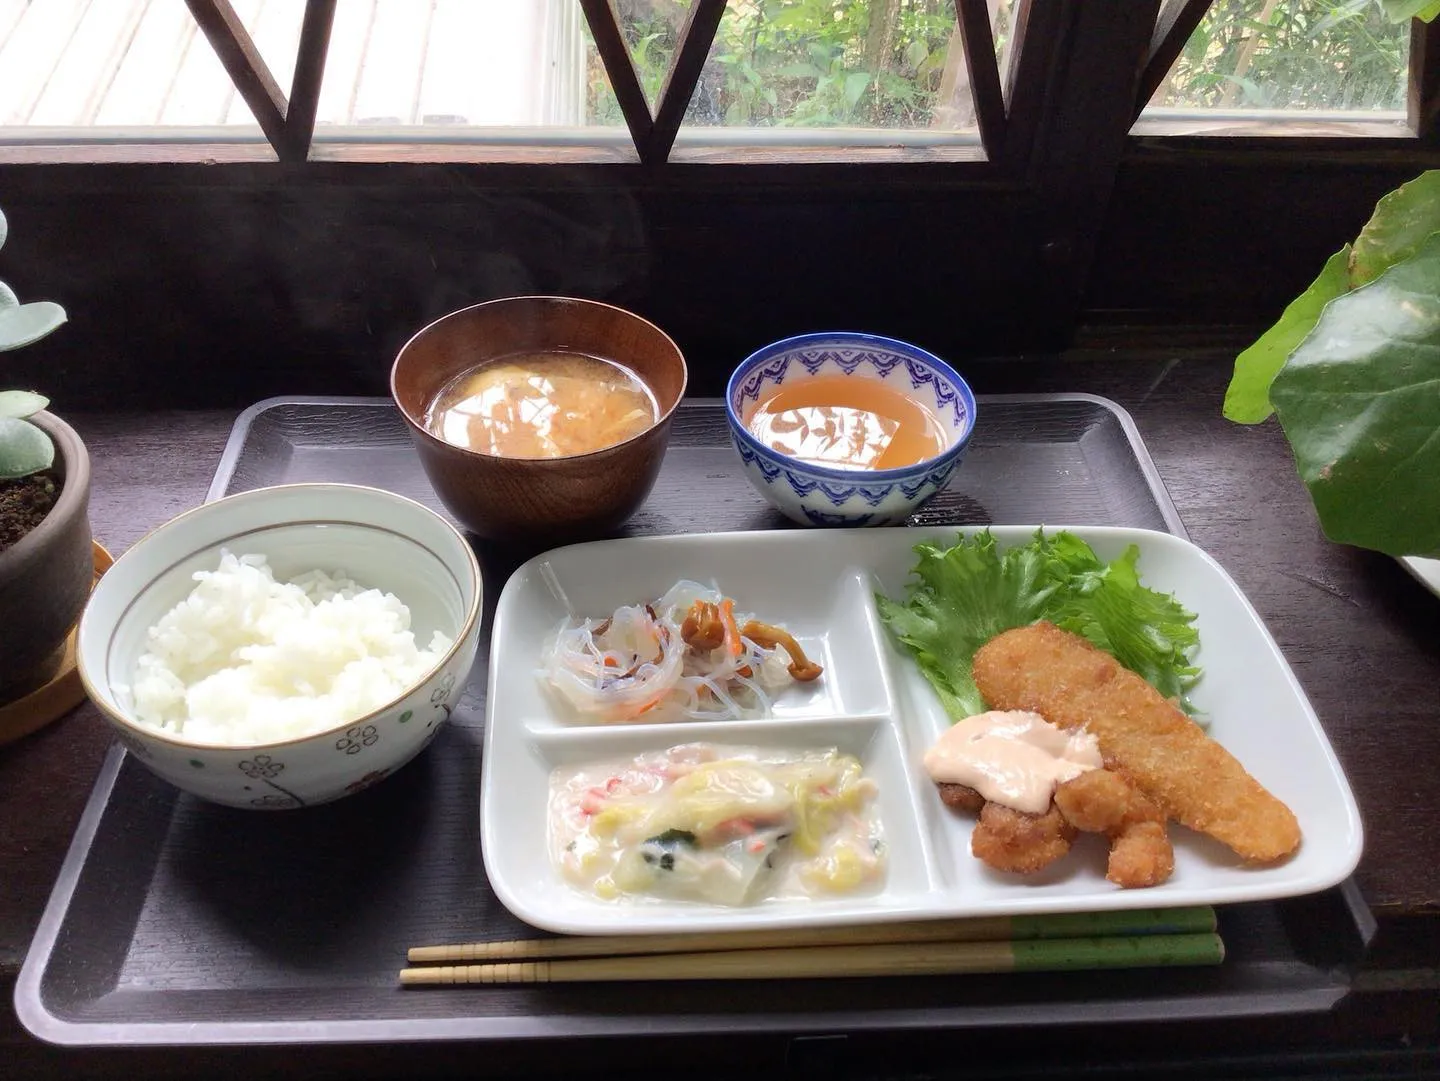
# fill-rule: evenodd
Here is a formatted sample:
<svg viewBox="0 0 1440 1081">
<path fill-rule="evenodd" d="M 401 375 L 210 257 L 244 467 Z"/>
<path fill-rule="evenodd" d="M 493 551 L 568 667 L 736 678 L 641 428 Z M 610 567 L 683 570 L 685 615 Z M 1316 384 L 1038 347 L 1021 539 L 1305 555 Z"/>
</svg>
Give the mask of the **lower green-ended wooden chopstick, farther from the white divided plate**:
<svg viewBox="0 0 1440 1081">
<path fill-rule="evenodd" d="M 400 985 L 419 987 L 471 983 L 942 976 L 1220 964 L 1224 956 L 1224 944 L 1214 933 L 1032 941 L 878 943 L 504 964 L 444 964 L 403 969 Z"/>
</svg>

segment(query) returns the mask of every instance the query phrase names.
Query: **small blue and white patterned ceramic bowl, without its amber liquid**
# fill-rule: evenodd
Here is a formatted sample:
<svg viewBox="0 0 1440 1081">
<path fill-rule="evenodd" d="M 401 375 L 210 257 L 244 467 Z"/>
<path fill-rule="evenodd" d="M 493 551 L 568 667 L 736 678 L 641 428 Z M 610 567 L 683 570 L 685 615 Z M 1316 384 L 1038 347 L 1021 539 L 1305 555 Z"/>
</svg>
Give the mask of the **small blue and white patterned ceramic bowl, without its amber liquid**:
<svg viewBox="0 0 1440 1081">
<path fill-rule="evenodd" d="M 845 376 L 884 383 L 932 410 L 949 432 L 935 458 L 900 469 L 837 469 L 766 446 L 746 428 L 756 404 L 786 381 Z M 750 484 L 806 525 L 893 525 L 946 485 L 975 432 L 975 394 L 939 357 L 894 338 L 802 334 L 752 353 L 730 376 L 726 419 Z"/>
</svg>

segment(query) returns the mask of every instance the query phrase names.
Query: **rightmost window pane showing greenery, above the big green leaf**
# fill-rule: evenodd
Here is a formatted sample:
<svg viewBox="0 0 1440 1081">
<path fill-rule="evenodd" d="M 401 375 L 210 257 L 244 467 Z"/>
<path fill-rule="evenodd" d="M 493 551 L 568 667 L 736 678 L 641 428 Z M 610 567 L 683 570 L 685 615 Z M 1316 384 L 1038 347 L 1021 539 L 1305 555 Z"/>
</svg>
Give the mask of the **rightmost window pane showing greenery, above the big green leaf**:
<svg viewBox="0 0 1440 1081">
<path fill-rule="evenodd" d="M 1408 49 L 1378 0 L 1215 0 L 1146 115 L 1403 111 Z"/>
</svg>

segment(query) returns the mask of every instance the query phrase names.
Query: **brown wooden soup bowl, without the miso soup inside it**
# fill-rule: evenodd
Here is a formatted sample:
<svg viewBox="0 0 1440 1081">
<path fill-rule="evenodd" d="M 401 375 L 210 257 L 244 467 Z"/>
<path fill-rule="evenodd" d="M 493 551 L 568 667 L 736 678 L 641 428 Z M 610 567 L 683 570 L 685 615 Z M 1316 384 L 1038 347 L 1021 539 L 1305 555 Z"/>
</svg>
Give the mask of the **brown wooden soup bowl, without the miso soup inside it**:
<svg viewBox="0 0 1440 1081">
<path fill-rule="evenodd" d="M 550 350 L 624 364 L 654 393 L 660 420 L 624 443 L 569 458 L 500 458 L 425 428 L 426 407 L 454 376 Z M 461 525 L 491 540 L 563 543 L 612 531 L 649 495 L 685 377 L 680 347 L 638 315 L 567 297 L 508 297 L 445 315 L 410 338 L 390 370 L 390 396 L 435 494 Z"/>
</svg>

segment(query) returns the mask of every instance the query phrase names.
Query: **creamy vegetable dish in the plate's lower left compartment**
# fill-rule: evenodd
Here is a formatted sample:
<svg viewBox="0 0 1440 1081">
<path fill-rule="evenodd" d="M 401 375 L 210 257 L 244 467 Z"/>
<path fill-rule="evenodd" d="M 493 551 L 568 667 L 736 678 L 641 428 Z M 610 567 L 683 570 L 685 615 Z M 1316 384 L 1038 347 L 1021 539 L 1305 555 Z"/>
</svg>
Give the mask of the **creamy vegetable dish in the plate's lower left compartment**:
<svg viewBox="0 0 1440 1081">
<path fill-rule="evenodd" d="M 835 750 L 694 743 L 550 777 L 550 858 L 605 901 L 743 905 L 878 890 L 876 784 Z"/>
</svg>

